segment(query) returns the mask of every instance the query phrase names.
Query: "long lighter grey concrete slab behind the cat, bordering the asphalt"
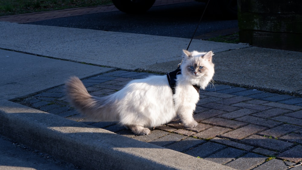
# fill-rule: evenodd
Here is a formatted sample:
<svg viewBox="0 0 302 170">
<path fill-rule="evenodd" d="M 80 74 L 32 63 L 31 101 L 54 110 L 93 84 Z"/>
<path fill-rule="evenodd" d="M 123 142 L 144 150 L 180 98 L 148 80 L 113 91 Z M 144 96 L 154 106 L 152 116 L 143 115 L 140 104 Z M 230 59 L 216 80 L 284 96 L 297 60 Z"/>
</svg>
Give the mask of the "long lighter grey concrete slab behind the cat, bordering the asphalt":
<svg viewBox="0 0 302 170">
<path fill-rule="evenodd" d="M 0 24 L 0 48 L 131 70 L 144 70 L 157 63 L 179 62 L 182 49 L 190 41 L 188 38 L 102 30 L 8 22 Z M 190 45 L 194 50 L 215 52 L 244 47 L 249 46 L 196 39 Z"/>
</svg>

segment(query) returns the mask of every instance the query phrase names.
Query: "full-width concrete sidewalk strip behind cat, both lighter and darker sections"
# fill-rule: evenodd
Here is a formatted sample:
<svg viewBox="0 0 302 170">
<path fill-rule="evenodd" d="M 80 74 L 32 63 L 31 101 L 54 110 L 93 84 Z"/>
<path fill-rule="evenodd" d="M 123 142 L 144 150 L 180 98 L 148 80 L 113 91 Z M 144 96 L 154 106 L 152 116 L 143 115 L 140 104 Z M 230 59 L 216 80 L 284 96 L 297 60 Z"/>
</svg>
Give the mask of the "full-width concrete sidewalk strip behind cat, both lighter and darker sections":
<svg viewBox="0 0 302 170">
<path fill-rule="evenodd" d="M 169 72 L 190 40 L 144 34 L 0 22 L 0 47 L 120 69 Z M 193 40 L 189 50 L 214 51 L 214 80 L 302 95 L 301 52 Z M 223 52 L 223 53 L 220 53 Z M 285 62 L 286 61 L 286 62 Z"/>
</svg>

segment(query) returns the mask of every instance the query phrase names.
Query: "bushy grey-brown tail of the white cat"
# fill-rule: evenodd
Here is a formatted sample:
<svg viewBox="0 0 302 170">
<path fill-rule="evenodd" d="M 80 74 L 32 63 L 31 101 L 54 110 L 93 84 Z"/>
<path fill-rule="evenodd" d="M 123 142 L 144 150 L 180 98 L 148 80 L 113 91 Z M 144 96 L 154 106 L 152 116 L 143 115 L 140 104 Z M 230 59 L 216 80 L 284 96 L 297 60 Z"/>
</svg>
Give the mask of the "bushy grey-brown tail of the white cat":
<svg viewBox="0 0 302 170">
<path fill-rule="evenodd" d="M 114 101 L 110 96 L 98 98 L 89 95 L 82 81 L 72 76 L 65 83 L 66 98 L 80 113 L 97 120 L 118 121 L 118 113 L 114 111 Z"/>
</svg>

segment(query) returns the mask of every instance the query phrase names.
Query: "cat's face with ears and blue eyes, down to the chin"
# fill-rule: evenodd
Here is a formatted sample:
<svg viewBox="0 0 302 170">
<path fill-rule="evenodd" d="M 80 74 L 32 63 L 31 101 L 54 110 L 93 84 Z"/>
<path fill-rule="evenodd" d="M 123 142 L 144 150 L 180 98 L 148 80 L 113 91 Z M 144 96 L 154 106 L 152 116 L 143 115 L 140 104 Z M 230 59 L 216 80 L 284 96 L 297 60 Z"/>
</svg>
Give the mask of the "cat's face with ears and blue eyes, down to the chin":
<svg viewBox="0 0 302 170">
<path fill-rule="evenodd" d="M 192 79 L 200 79 L 207 76 L 209 72 L 214 72 L 214 64 L 212 63 L 212 51 L 207 53 L 199 53 L 197 51 L 188 52 L 184 50 L 185 59 L 182 70 L 186 76 Z"/>
</svg>

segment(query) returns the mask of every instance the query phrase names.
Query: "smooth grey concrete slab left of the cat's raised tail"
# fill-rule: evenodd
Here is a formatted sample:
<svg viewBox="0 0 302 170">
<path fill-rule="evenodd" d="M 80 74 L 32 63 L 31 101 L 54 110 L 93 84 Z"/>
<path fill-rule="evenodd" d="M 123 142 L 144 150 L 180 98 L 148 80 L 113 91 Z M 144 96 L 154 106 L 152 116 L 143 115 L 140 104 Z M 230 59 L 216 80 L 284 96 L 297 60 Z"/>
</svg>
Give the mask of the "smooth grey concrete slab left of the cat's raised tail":
<svg viewBox="0 0 302 170">
<path fill-rule="evenodd" d="M 0 49 L 0 98 L 20 98 L 62 85 L 72 75 L 85 78 L 113 70 Z"/>
</svg>

